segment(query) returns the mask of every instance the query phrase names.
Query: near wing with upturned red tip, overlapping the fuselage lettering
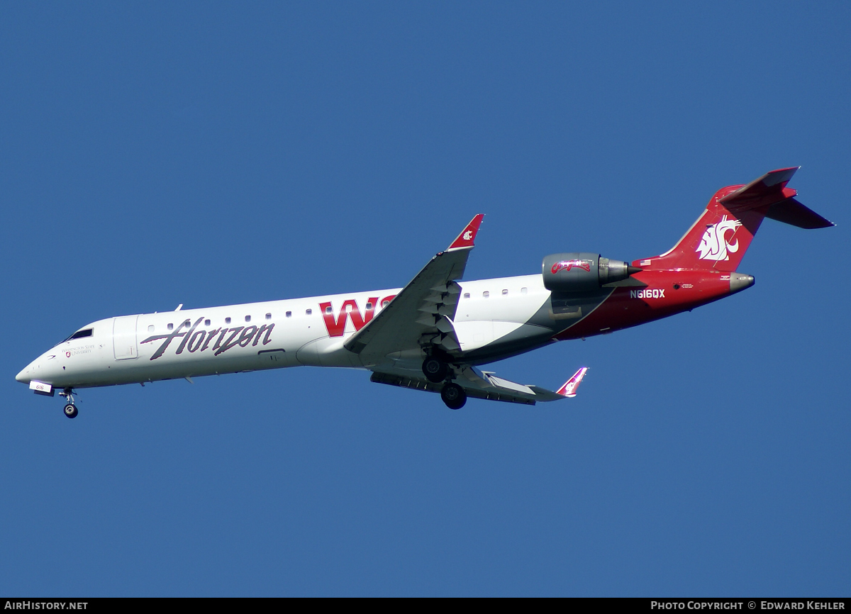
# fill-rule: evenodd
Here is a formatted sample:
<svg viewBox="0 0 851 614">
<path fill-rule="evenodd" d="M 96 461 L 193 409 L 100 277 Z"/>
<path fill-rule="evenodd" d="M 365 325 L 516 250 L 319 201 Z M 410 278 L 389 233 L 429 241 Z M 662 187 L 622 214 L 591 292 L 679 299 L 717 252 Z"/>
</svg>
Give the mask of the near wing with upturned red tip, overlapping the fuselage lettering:
<svg viewBox="0 0 851 614">
<path fill-rule="evenodd" d="M 432 258 L 378 316 L 352 335 L 346 350 L 359 354 L 367 367 L 385 361 L 389 354 L 419 355 L 425 344 L 439 345 L 450 354 L 460 350 L 449 321 L 460 297 L 454 280 L 464 275 L 483 217 L 479 213 L 473 218 L 445 252 Z"/>
</svg>

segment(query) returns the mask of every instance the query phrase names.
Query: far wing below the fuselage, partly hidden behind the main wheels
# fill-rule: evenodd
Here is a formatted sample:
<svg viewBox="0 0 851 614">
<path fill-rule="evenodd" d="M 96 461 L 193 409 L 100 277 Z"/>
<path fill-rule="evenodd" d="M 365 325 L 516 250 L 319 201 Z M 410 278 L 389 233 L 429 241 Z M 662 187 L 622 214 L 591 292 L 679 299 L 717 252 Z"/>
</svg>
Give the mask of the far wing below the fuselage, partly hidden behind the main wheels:
<svg viewBox="0 0 851 614">
<path fill-rule="evenodd" d="M 534 405 L 537 401 L 560 401 L 573 398 L 576 396 L 576 389 L 587 371 L 588 367 L 582 367 L 557 392 L 540 388 L 540 386 L 517 384 L 507 379 L 497 378 L 493 372 L 479 371 L 470 366 L 461 367 L 459 376 L 454 379 L 454 384 L 460 385 L 467 396 L 472 398 Z M 401 372 L 374 371 L 370 381 L 428 392 L 440 392 L 443 389 L 443 383 L 433 384 L 426 378 L 418 377 L 410 372 L 403 374 Z"/>
</svg>

